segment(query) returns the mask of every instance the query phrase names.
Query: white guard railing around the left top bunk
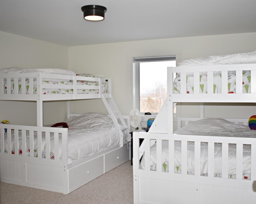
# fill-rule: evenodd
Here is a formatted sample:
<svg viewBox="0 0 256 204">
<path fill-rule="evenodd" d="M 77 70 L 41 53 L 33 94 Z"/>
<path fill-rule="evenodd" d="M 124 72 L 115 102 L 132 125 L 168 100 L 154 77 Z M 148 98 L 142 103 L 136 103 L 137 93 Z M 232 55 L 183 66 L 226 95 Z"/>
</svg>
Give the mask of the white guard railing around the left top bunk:
<svg viewBox="0 0 256 204">
<path fill-rule="evenodd" d="M 0 100 L 51 101 L 108 97 L 111 80 L 48 73 L 0 75 Z"/>
</svg>

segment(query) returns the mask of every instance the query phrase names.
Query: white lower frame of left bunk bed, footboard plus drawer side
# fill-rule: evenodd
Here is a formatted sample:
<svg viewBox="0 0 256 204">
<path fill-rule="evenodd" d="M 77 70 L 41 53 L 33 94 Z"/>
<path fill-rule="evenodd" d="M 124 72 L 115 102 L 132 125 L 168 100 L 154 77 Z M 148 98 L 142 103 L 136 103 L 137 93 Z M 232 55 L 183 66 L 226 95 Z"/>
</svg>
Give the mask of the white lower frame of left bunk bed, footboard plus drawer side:
<svg viewBox="0 0 256 204">
<path fill-rule="evenodd" d="M 11 136 L 11 130 L 14 137 Z M 4 137 L 4 134 L 7 136 Z M 46 148 L 43 147 L 44 135 Z M 54 137 L 51 146 L 50 135 Z M 34 138 L 38 142 L 37 148 L 33 145 Z M 124 144 L 123 147 L 110 147 L 68 164 L 67 128 L 0 124 L 0 181 L 68 194 L 128 161 L 129 149 Z M 22 145 L 22 154 L 19 154 L 19 145 Z M 54 159 L 51 158 L 52 148 Z M 59 149 L 62 158 L 56 156 L 59 155 Z"/>
</svg>

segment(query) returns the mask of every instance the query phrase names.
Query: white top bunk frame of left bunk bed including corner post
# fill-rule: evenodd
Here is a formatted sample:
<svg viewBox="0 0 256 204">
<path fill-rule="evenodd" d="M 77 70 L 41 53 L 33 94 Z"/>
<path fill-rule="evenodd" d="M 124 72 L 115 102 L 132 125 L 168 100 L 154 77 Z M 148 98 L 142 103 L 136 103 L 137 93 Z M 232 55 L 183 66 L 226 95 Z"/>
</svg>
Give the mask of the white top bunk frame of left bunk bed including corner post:
<svg viewBox="0 0 256 204">
<path fill-rule="evenodd" d="M 26 93 L 26 79 L 29 80 L 29 89 Z M 72 84 L 47 84 L 43 79 L 60 79 L 61 81 L 73 81 Z M 4 86 L 6 81 L 7 86 Z M 14 89 L 11 93 L 11 82 L 14 82 Z M 97 81 L 98 85 L 78 85 L 77 81 Z M 75 99 L 100 99 L 110 97 L 109 93 L 102 93 L 102 81 L 108 82 L 108 91 L 111 93 L 111 79 L 102 79 L 96 77 L 58 75 L 48 73 L 17 73 L 0 75 L 0 100 L 11 101 L 36 101 L 37 104 L 37 126 L 43 126 L 43 101 L 61 101 Z M 21 92 L 19 92 L 19 83 L 21 83 Z M 33 87 L 36 83 L 36 93 Z M 6 93 L 5 93 L 6 89 Z M 43 94 L 44 89 L 72 89 L 72 94 Z M 79 89 L 98 89 L 99 93 L 79 94 Z"/>
</svg>

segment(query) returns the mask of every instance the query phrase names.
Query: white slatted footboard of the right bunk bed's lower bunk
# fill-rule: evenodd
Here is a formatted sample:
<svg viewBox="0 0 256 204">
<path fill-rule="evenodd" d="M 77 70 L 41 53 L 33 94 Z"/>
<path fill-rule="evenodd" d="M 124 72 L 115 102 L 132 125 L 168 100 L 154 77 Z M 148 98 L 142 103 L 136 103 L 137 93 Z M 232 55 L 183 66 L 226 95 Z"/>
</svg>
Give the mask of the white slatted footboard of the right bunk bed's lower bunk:
<svg viewBox="0 0 256 204">
<path fill-rule="evenodd" d="M 144 139 L 139 147 L 139 139 Z M 151 141 L 151 144 L 150 144 Z M 156 141 L 152 149 L 152 141 Z M 179 156 L 176 141 L 180 142 Z M 164 153 L 167 143 L 167 153 Z M 193 143 L 193 160 L 189 143 Z M 202 143 L 206 143 L 207 162 L 202 162 Z M 215 145 L 221 145 L 221 174 L 214 171 Z M 235 172 L 229 175 L 229 144 L 235 145 Z M 250 174 L 244 173 L 244 145 L 250 147 Z M 152 146 L 152 147 L 150 147 Z M 200 148 L 201 147 L 201 148 Z M 154 163 L 152 163 L 152 154 Z M 168 155 L 167 160 L 164 157 Z M 140 155 L 143 155 L 142 158 Z M 177 159 L 180 159 L 178 166 Z M 142 164 L 142 162 L 144 162 Z M 164 165 L 165 164 L 165 165 Z M 190 164 L 194 164 L 193 171 Z M 161 166 L 158 168 L 158 166 Z M 208 169 L 202 173 L 202 166 Z M 142 169 L 143 168 L 143 169 Z M 204 169 L 205 171 L 205 169 Z M 134 203 L 244 203 L 256 202 L 255 138 L 205 137 L 163 133 L 133 133 Z"/>
</svg>

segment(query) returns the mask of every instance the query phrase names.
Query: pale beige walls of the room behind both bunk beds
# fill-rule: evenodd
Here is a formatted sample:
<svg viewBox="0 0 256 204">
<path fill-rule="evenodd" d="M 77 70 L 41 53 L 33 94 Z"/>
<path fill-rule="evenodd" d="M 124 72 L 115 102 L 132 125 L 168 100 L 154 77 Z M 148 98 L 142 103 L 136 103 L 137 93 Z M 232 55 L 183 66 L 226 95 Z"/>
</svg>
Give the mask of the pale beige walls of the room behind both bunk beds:
<svg viewBox="0 0 256 204">
<path fill-rule="evenodd" d="M 0 32 L 0 68 L 53 67 L 71 69 L 76 73 L 102 74 L 112 78 L 113 97 L 122 114 L 128 115 L 133 108 L 133 57 L 177 55 L 177 60 L 190 57 L 249 52 L 256 50 L 256 33 L 219 36 L 198 36 L 98 44 L 90 46 L 65 47 L 31 38 Z M 36 125 L 36 105 L 32 102 L 0 101 L 0 121 L 9 119 L 11 123 Z M 182 115 L 198 114 L 190 109 L 179 111 Z M 213 111 L 214 110 L 214 111 Z M 238 115 L 247 117 L 256 113 L 254 107 L 246 107 L 245 112 L 236 109 Z M 106 113 L 100 100 L 75 101 L 72 111 L 76 113 L 99 111 Z M 226 111 L 226 112 L 225 112 Z M 26 115 L 20 116 L 19 112 Z M 210 106 L 207 114 L 216 113 Z M 235 111 L 222 108 L 221 113 L 234 114 Z M 44 103 L 44 124 L 61 122 L 66 117 L 65 102 Z"/>
</svg>

